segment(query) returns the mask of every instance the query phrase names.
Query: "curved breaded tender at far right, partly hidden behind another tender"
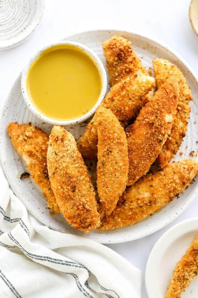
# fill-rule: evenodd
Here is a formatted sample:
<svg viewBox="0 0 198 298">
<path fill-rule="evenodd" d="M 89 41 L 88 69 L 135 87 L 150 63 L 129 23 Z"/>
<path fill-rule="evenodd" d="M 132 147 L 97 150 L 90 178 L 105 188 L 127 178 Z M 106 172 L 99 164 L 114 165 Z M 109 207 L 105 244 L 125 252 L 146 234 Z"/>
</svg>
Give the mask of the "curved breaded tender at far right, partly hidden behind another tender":
<svg viewBox="0 0 198 298">
<path fill-rule="evenodd" d="M 170 63 L 170 61 L 161 58 L 154 59 L 153 70 L 158 88 L 160 88 L 170 76 L 174 76 L 179 82 L 177 113 L 175 115 L 171 133 L 158 156 L 159 167 L 164 168 L 177 153 L 181 142 L 185 137 L 190 114 L 189 101 L 191 99 L 191 92 L 180 69 L 176 65 Z"/>
</svg>

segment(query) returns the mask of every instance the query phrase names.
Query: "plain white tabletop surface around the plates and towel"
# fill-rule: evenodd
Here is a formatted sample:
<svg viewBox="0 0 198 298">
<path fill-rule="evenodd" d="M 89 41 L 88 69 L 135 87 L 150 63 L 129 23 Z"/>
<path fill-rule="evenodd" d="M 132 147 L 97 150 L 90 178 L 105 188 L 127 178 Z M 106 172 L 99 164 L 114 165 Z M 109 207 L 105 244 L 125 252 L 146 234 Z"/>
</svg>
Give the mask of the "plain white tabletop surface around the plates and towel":
<svg viewBox="0 0 198 298">
<path fill-rule="evenodd" d="M 33 35 L 15 48 L 0 51 L 0 105 L 37 49 L 58 36 L 90 29 L 128 30 L 158 39 L 178 52 L 198 75 L 198 36 L 190 26 L 189 4 L 190 0 L 46 0 L 43 19 Z M 196 217 L 197 210 L 198 198 L 162 230 L 139 240 L 107 245 L 142 270 L 143 298 L 148 297 L 145 267 L 151 249 L 171 226 Z"/>
</svg>

